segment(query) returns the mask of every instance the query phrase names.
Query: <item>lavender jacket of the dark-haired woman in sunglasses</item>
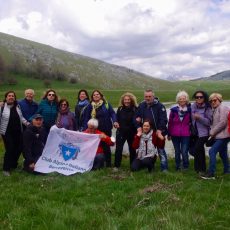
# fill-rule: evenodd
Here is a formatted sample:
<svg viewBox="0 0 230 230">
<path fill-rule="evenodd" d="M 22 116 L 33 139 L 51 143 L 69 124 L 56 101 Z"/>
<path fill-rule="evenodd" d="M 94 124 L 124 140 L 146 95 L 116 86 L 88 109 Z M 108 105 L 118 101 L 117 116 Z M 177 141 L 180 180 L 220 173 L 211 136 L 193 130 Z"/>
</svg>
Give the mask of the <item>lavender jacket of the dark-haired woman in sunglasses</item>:
<svg viewBox="0 0 230 230">
<path fill-rule="evenodd" d="M 206 105 L 198 107 L 196 103 L 191 106 L 192 114 L 196 113 L 200 115 L 199 120 L 192 119 L 193 125 L 196 122 L 199 137 L 206 137 L 209 135 L 210 125 L 212 121 L 212 109 Z"/>
</svg>

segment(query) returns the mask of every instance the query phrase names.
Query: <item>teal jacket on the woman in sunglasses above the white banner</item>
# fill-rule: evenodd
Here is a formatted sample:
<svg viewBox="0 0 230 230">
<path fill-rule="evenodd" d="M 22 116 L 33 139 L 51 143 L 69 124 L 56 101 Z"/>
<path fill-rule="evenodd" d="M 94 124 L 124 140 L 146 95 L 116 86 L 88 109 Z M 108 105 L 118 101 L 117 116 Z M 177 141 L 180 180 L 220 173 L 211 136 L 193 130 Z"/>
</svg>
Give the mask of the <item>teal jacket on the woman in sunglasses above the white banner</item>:
<svg viewBox="0 0 230 230">
<path fill-rule="evenodd" d="M 41 100 L 37 113 L 41 114 L 44 119 L 44 126 L 50 128 L 55 124 L 58 106 L 56 102 L 50 103 L 47 99 Z"/>
</svg>

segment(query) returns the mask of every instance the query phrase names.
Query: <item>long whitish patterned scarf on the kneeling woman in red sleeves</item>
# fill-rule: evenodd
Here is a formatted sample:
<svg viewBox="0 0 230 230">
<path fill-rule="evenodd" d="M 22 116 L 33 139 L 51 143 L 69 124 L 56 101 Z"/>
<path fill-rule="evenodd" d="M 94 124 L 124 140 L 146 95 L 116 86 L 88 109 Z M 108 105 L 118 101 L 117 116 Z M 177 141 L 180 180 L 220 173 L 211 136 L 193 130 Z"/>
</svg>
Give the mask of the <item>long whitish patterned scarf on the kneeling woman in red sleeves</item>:
<svg viewBox="0 0 230 230">
<path fill-rule="evenodd" d="M 140 139 L 140 145 L 137 150 L 138 159 L 142 160 L 145 157 L 153 157 L 156 154 L 156 148 L 152 142 L 152 134 L 153 134 L 153 130 L 151 130 L 147 134 L 142 133 Z"/>
</svg>

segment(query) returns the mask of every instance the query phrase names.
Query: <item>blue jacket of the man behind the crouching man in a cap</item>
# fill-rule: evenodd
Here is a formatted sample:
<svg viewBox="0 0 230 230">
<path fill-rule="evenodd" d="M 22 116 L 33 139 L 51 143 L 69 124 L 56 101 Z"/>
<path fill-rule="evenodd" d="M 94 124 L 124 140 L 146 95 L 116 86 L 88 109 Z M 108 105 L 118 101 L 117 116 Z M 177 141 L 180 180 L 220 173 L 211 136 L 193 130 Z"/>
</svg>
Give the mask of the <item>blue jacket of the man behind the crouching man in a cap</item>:
<svg viewBox="0 0 230 230">
<path fill-rule="evenodd" d="M 38 110 L 38 103 L 35 101 L 28 101 L 26 98 L 20 100 L 18 102 L 21 111 L 22 116 L 29 121 L 29 119 L 37 112 Z"/>
</svg>

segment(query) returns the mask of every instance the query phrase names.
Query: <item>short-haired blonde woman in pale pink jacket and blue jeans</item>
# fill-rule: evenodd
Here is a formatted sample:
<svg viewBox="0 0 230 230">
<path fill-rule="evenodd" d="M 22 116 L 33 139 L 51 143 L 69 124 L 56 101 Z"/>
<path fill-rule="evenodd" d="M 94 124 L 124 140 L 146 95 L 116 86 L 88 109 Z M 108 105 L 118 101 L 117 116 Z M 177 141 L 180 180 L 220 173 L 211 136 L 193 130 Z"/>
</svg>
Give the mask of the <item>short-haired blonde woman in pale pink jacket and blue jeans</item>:
<svg viewBox="0 0 230 230">
<path fill-rule="evenodd" d="M 212 106 L 212 123 L 210 137 L 214 139 L 214 143 L 209 149 L 209 169 L 206 174 L 202 175 L 203 179 L 215 179 L 216 172 L 216 154 L 219 152 L 223 162 L 223 173 L 229 173 L 228 159 L 228 142 L 230 134 L 228 132 L 228 113 L 229 108 L 222 104 L 222 95 L 212 93 L 209 97 L 209 102 Z"/>
</svg>

